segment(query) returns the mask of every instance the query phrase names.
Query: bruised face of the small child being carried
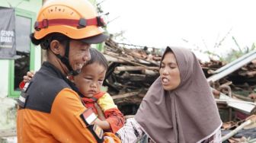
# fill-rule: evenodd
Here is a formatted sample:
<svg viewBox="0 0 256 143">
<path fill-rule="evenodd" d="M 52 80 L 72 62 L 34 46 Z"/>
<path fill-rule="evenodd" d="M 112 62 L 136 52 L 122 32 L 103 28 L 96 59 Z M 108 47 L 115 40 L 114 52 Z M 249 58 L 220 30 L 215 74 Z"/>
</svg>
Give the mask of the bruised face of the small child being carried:
<svg viewBox="0 0 256 143">
<path fill-rule="evenodd" d="M 74 77 L 75 85 L 81 94 L 91 98 L 94 94 L 98 94 L 101 91 L 106 71 L 106 68 L 97 62 L 85 65 L 80 74 Z"/>
</svg>

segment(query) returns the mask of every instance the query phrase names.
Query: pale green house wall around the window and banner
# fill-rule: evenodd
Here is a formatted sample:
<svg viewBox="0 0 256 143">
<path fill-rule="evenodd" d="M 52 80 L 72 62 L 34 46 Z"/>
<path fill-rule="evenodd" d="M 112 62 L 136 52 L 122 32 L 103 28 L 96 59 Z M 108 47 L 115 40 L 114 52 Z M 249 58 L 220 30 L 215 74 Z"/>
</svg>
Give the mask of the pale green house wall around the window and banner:
<svg viewBox="0 0 256 143">
<path fill-rule="evenodd" d="M 15 14 L 30 17 L 35 20 L 37 11 L 39 11 L 42 0 L 0 0 L 0 6 L 6 8 L 15 8 Z M 32 21 L 34 24 L 34 21 Z M 33 29 L 31 24 L 31 30 Z M 32 45 L 32 44 L 31 44 Z M 40 65 L 40 48 L 30 47 L 31 58 L 30 68 L 36 68 Z M 36 58 L 37 57 L 37 58 Z M 14 80 L 14 60 L 0 59 L 0 129 L 14 129 L 16 126 L 16 100 L 10 97 L 18 97 L 19 92 L 13 90 Z"/>
</svg>

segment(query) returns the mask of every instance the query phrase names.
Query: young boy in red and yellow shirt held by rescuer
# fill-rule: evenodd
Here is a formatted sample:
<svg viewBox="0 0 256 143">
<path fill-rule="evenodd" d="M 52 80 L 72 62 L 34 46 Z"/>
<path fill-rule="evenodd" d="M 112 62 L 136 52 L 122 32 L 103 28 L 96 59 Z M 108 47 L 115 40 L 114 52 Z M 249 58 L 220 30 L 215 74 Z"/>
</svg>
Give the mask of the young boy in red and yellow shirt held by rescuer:
<svg viewBox="0 0 256 143">
<path fill-rule="evenodd" d="M 110 94 L 101 91 L 106 72 L 107 59 L 97 49 L 90 49 L 91 59 L 83 67 L 82 71 L 75 76 L 69 76 L 69 80 L 75 83 L 78 91 L 82 94 L 82 101 L 87 108 L 92 108 L 98 119 L 95 124 L 104 131 L 116 133 L 124 125 L 124 117 L 117 109 Z M 27 72 L 24 81 L 27 82 L 33 77 L 33 72 Z M 22 82 L 20 87 L 22 88 Z"/>
</svg>

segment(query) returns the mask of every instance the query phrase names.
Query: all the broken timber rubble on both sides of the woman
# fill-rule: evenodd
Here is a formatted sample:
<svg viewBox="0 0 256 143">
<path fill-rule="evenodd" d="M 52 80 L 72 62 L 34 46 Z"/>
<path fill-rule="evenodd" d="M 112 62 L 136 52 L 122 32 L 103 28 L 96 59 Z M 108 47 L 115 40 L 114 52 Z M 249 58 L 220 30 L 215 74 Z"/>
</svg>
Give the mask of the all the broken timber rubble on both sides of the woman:
<svg viewBox="0 0 256 143">
<path fill-rule="evenodd" d="M 158 78 L 162 52 L 163 49 L 147 47 L 128 49 L 111 39 L 105 43 L 104 56 L 109 62 L 109 68 L 104 86 L 108 87 L 107 92 L 125 116 L 135 115 L 146 91 Z M 256 140 L 253 133 L 256 126 L 251 129 L 241 127 L 248 124 L 246 119 L 249 116 L 256 114 L 254 93 L 256 92 L 256 52 L 254 52 L 229 64 L 213 59 L 210 62 L 200 62 L 213 88 L 213 95 L 222 117 L 222 137 L 229 135 L 224 138 L 226 142 Z M 252 122 L 249 124 L 254 125 Z M 232 131 L 235 132 L 234 135 L 230 135 Z"/>
</svg>

